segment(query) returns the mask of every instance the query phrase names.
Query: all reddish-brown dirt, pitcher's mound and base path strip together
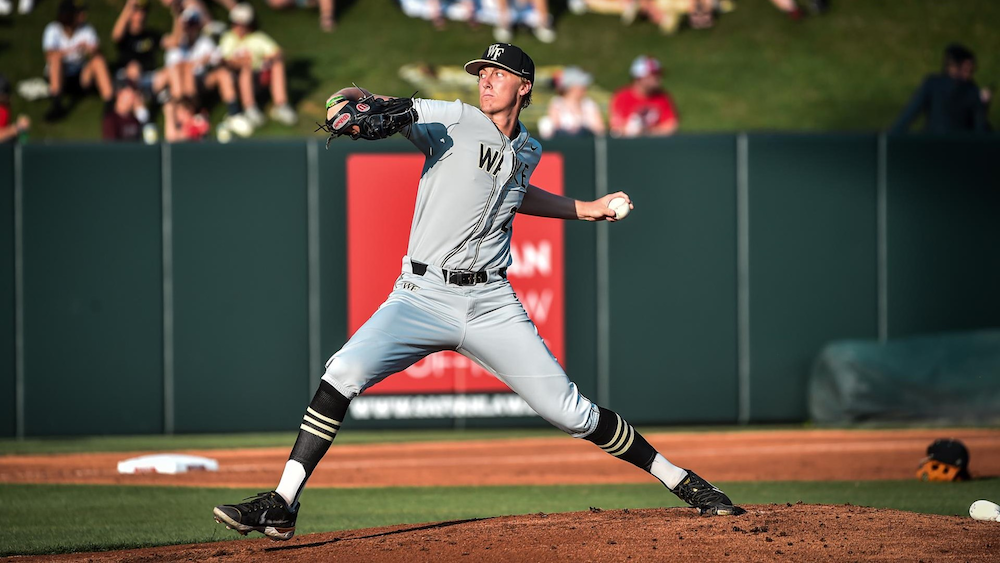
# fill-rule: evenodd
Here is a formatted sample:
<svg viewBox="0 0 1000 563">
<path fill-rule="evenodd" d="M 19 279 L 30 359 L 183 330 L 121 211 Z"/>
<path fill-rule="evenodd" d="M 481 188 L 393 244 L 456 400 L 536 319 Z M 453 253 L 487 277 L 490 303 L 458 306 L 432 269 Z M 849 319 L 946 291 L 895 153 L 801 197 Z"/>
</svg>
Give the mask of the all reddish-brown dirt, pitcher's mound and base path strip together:
<svg viewBox="0 0 1000 563">
<path fill-rule="evenodd" d="M 913 478 L 935 438 L 962 440 L 973 476 L 1000 475 L 996 430 L 652 434 L 675 463 L 713 481 Z M 119 475 L 139 455 L 0 457 L 4 483 L 105 483 L 269 489 L 288 450 L 191 451 L 218 472 Z M 780 460 L 780 462 L 778 461 Z M 649 482 L 635 467 L 569 438 L 334 446 L 310 486 L 371 487 Z M 1000 524 L 857 506 L 747 506 L 701 518 L 686 508 L 504 516 L 267 539 L 70 554 L 17 561 L 1000 561 Z"/>
</svg>

